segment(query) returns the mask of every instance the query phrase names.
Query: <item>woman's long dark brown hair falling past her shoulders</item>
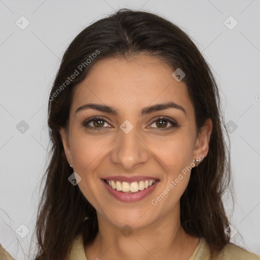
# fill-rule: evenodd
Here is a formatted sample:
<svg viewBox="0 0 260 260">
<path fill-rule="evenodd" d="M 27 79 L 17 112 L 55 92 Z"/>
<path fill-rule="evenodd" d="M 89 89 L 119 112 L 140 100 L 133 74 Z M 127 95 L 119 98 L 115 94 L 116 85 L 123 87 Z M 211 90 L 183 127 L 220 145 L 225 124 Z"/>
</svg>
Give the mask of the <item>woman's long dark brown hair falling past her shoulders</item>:
<svg viewBox="0 0 260 260">
<path fill-rule="evenodd" d="M 64 259 L 76 235 L 83 235 L 85 246 L 98 232 L 95 209 L 78 185 L 68 181 L 73 170 L 59 134 L 60 127 L 68 127 L 73 90 L 96 61 L 139 53 L 155 56 L 173 72 L 180 68 L 186 74 L 183 81 L 196 113 L 197 133 L 207 118 L 213 123 L 208 155 L 192 168 L 180 200 L 181 225 L 186 233 L 204 237 L 217 249 L 230 241 L 224 232 L 229 221 L 222 204 L 223 192 L 230 185 L 230 139 L 210 67 L 187 34 L 172 22 L 148 12 L 121 9 L 80 32 L 64 53 L 53 83 L 48 106 L 52 148 L 36 223 L 38 260 Z M 72 79 L 72 74 L 77 76 Z"/>
</svg>

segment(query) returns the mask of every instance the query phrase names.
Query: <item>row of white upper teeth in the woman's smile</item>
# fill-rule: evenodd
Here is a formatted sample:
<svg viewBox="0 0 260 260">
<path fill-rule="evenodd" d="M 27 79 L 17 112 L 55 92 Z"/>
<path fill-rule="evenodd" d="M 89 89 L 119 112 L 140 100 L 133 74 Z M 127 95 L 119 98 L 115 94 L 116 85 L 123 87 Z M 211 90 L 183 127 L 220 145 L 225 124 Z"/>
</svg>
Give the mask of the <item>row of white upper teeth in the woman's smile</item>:
<svg viewBox="0 0 260 260">
<path fill-rule="evenodd" d="M 146 181 L 140 181 L 138 182 L 120 182 L 120 181 L 113 181 L 113 180 L 106 180 L 106 182 L 109 184 L 110 187 L 113 189 L 116 189 L 118 191 L 123 192 L 137 192 L 139 190 L 147 189 L 149 186 L 155 183 L 156 180 L 146 180 Z"/>
</svg>

